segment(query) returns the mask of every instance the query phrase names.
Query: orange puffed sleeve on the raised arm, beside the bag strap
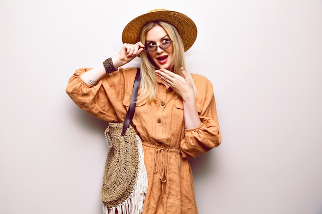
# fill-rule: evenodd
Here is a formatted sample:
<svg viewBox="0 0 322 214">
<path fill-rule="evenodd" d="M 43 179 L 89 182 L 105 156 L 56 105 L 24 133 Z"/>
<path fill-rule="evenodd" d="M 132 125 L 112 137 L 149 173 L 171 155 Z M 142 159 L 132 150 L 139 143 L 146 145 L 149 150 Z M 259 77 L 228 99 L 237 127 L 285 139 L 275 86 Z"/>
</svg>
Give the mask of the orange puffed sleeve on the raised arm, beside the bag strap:
<svg viewBox="0 0 322 214">
<path fill-rule="evenodd" d="M 80 68 L 69 78 L 66 93 L 82 110 L 106 122 L 122 122 L 127 109 L 123 103 L 131 98 L 136 68 L 120 68 L 103 77 L 95 86 L 83 82 L 81 74 L 91 68 Z M 127 96 L 126 96 L 127 94 Z"/>
</svg>

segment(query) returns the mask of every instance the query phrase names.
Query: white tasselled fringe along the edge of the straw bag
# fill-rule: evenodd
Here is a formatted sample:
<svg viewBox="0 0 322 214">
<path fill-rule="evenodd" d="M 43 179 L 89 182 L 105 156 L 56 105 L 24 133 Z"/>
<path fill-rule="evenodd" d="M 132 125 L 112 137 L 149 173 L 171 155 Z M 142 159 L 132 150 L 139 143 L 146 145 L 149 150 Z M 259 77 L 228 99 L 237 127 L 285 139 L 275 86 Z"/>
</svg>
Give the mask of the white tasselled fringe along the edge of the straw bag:
<svg viewBox="0 0 322 214">
<path fill-rule="evenodd" d="M 139 166 L 133 192 L 126 201 L 116 207 L 108 208 L 104 206 L 103 214 L 115 214 L 115 210 L 117 210 L 118 214 L 140 214 L 143 211 L 144 199 L 148 189 L 148 174 L 144 164 L 142 141 L 138 135 L 136 135 L 136 141 L 139 153 Z"/>
</svg>

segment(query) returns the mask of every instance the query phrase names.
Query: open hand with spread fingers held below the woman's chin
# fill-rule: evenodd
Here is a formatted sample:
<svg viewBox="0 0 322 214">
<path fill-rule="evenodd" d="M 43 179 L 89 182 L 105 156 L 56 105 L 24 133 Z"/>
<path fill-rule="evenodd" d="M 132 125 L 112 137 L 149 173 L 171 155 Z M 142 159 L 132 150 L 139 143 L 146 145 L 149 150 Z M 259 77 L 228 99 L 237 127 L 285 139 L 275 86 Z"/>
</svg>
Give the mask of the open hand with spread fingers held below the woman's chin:
<svg viewBox="0 0 322 214">
<path fill-rule="evenodd" d="M 180 68 L 180 72 L 183 77 L 164 68 L 155 70 L 156 75 L 160 77 L 165 85 L 175 90 L 184 101 L 194 99 L 192 83 L 183 67 Z"/>
</svg>

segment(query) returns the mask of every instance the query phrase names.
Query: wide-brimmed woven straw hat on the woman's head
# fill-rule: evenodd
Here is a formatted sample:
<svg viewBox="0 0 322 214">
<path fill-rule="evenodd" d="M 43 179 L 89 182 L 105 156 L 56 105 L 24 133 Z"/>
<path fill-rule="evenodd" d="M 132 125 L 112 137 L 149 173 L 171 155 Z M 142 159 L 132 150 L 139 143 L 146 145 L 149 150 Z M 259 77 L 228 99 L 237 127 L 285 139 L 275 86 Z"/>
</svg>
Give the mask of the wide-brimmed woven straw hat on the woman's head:
<svg viewBox="0 0 322 214">
<path fill-rule="evenodd" d="M 141 29 L 146 24 L 153 21 L 163 21 L 172 24 L 178 30 L 182 38 L 185 51 L 193 45 L 197 37 L 197 28 L 188 16 L 176 11 L 155 9 L 134 18 L 134 20 L 124 28 L 122 42 L 131 44 L 139 42 Z"/>
</svg>

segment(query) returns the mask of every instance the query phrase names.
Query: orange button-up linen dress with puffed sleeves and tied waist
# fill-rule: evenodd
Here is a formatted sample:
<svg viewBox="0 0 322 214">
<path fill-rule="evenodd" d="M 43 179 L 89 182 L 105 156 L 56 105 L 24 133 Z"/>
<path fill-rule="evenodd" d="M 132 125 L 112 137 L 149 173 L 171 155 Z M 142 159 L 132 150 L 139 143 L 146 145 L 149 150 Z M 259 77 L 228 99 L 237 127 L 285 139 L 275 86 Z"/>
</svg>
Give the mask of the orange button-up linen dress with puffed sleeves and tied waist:
<svg viewBox="0 0 322 214">
<path fill-rule="evenodd" d="M 87 86 L 80 68 L 70 77 L 66 92 L 84 111 L 106 122 L 123 122 L 131 102 L 136 68 L 120 68 L 97 85 Z M 185 129 L 182 99 L 156 76 L 156 101 L 137 103 L 133 127 L 142 140 L 148 172 L 143 214 L 198 213 L 192 171 L 194 158 L 221 143 L 212 84 L 192 74 L 198 89 L 196 107 L 201 125 Z"/>
</svg>

